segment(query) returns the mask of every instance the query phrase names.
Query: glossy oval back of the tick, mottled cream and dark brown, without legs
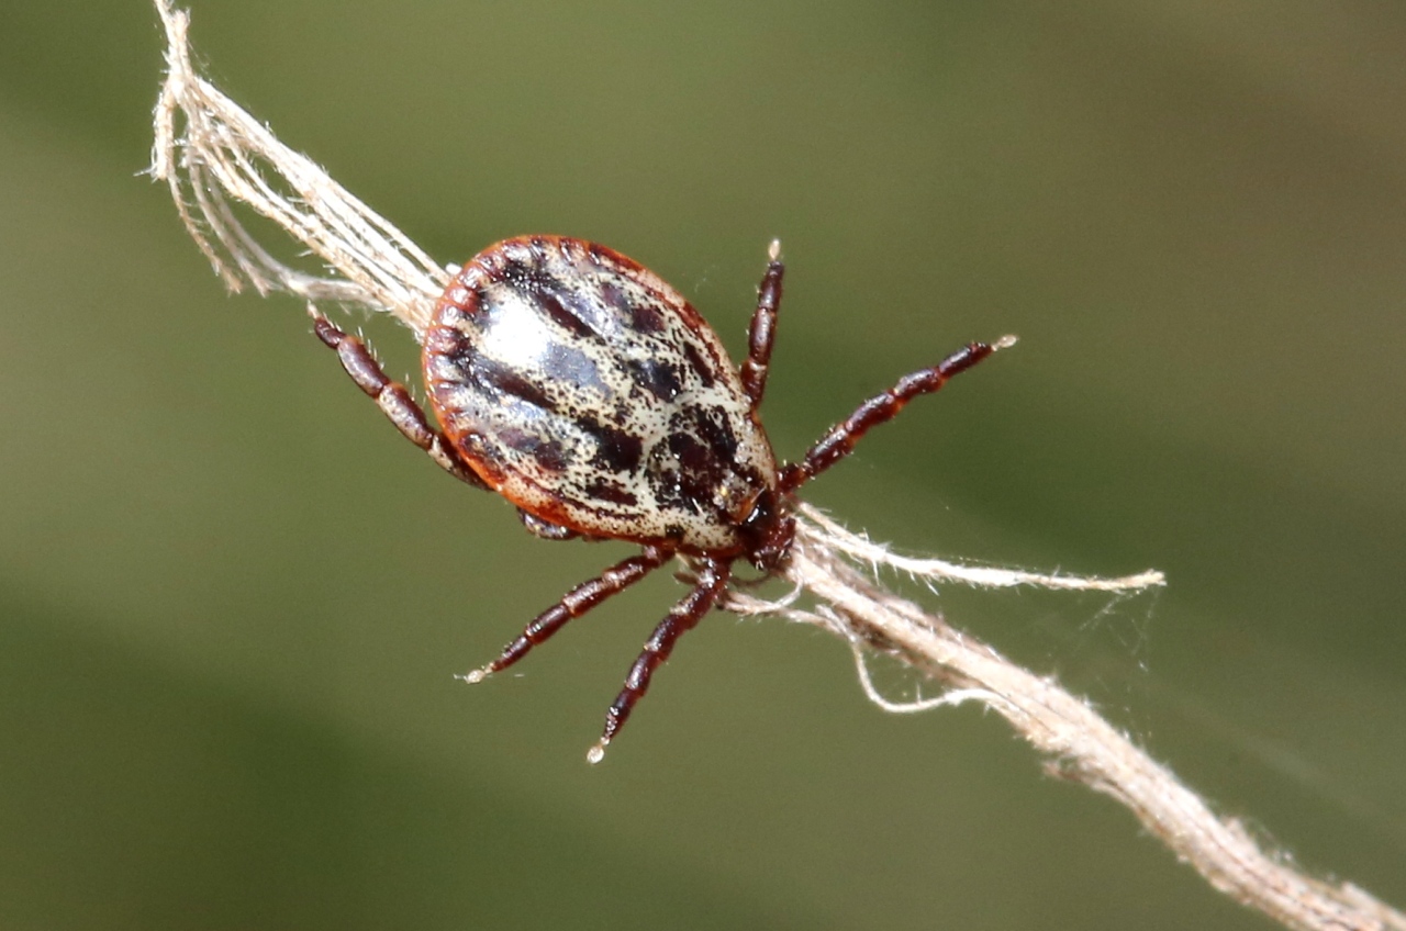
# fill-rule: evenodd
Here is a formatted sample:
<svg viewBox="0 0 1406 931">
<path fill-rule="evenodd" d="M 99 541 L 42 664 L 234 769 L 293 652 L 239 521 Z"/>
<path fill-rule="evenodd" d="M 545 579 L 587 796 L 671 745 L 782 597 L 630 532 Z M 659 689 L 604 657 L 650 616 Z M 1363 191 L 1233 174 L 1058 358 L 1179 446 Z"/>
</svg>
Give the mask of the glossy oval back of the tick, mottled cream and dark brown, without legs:
<svg viewBox="0 0 1406 931">
<path fill-rule="evenodd" d="M 423 363 L 465 461 L 554 525 L 725 556 L 776 485 L 717 336 L 603 246 L 526 236 L 478 253 L 440 298 Z"/>
</svg>

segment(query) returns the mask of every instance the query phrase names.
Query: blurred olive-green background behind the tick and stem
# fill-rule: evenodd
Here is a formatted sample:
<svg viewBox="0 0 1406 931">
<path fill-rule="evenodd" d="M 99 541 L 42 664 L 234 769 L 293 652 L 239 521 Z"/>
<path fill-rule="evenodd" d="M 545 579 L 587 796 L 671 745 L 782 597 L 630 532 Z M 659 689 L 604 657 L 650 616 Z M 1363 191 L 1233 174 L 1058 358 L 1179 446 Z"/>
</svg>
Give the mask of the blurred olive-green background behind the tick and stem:
<svg viewBox="0 0 1406 931">
<path fill-rule="evenodd" d="M 1166 570 L 927 603 L 1406 903 L 1406 7 L 201 0 L 194 39 L 443 262 L 598 239 L 735 353 L 780 236 L 782 456 L 1019 333 L 810 498 Z M 529 537 L 222 293 L 136 176 L 160 51 L 141 3 L 0 4 L 0 927 L 1268 927 L 811 629 L 714 615 L 586 766 L 668 578 L 451 679 L 628 548 Z"/>
</svg>

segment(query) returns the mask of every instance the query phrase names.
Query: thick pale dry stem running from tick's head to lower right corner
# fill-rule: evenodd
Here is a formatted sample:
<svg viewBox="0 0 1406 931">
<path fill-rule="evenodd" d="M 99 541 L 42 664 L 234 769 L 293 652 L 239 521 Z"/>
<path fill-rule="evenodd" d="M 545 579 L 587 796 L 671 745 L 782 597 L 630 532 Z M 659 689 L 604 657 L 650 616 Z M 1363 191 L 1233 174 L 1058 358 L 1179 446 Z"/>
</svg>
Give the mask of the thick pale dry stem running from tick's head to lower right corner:
<svg viewBox="0 0 1406 931">
<path fill-rule="evenodd" d="M 786 577 L 813 593 L 821 609 L 796 610 L 745 596 L 735 596 L 730 608 L 780 612 L 793 620 L 825 627 L 851 643 L 890 653 L 952 689 L 931 703 L 976 700 L 987 705 L 1050 757 L 1050 773 L 1123 803 L 1212 886 L 1286 927 L 1406 931 L 1406 916 L 1353 885 L 1334 886 L 1301 873 L 1285 858 L 1261 848 L 1240 823 L 1216 817 L 1170 769 L 1053 679 L 1015 665 L 941 617 L 880 588 L 844 556 L 859 540 L 832 522 L 814 522 L 815 512 L 806 511 Z M 882 547 L 866 556 L 877 564 L 903 565 L 901 560 L 889 560 Z"/>
</svg>

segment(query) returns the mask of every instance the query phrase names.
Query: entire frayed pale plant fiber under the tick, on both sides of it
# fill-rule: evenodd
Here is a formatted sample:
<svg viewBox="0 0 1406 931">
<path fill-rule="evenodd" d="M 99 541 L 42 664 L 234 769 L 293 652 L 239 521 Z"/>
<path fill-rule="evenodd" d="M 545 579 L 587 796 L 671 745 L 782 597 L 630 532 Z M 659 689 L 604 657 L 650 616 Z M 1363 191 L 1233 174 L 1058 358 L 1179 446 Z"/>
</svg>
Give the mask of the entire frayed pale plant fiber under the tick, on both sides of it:
<svg viewBox="0 0 1406 931">
<path fill-rule="evenodd" d="M 191 65 L 188 14 L 156 0 L 166 27 L 167 75 L 156 104 L 152 176 L 170 184 L 181 221 L 231 290 L 285 291 L 309 304 L 330 301 L 389 312 L 420 336 L 449 274 L 408 236 L 283 145 Z M 243 204 L 271 219 L 326 263 L 326 276 L 299 271 L 264 249 L 235 215 Z M 1160 572 L 1126 578 L 1040 575 L 1018 570 L 908 558 L 849 533 L 801 505 L 779 602 L 733 593 L 730 610 L 779 615 L 841 636 L 855 651 L 860 683 L 889 712 L 977 702 L 1005 717 L 1046 754 L 1049 772 L 1112 796 L 1191 863 L 1212 886 L 1291 928 L 1406 931 L 1406 916 L 1361 889 L 1306 876 L 1265 851 L 1236 820 L 1216 817 L 1166 766 L 1059 686 L 886 591 L 880 568 L 928 585 L 1130 593 L 1164 584 Z M 862 571 L 865 567 L 868 571 Z M 797 608 L 801 593 L 815 599 Z M 863 650 L 877 650 L 938 681 L 938 698 L 898 705 L 869 679 Z"/>
</svg>

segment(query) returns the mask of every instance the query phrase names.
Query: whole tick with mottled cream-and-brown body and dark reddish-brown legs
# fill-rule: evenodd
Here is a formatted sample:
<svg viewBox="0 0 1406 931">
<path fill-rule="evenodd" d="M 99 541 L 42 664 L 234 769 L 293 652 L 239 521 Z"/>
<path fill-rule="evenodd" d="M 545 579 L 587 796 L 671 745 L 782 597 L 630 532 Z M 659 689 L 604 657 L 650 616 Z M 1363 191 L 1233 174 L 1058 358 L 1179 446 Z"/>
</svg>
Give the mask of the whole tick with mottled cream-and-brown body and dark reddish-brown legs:
<svg viewBox="0 0 1406 931">
<path fill-rule="evenodd" d="M 638 543 L 533 620 L 479 682 L 572 617 L 675 556 L 689 593 L 654 629 L 606 712 L 588 759 L 599 762 L 678 638 L 717 605 L 733 563 L 786 564 L 794 492 L 848 456 L 873 426 L 997 349 L 969 343 L 932 368 L 865 401 L 799 463 L 778 466 L 758 406 L 782 298 L 780 242 L 758 288 L 748 356 L 734 370 L 717 335 L 678 291 L 638 263 L 581 239 L 520 236 L 474 256 L 446 288 L 423 333 L 430 426 L 366 343 L 314 311 L 316 335 L 416 446 L 454 477 L 496 491 L 548 540 Z"/>
</svg>

